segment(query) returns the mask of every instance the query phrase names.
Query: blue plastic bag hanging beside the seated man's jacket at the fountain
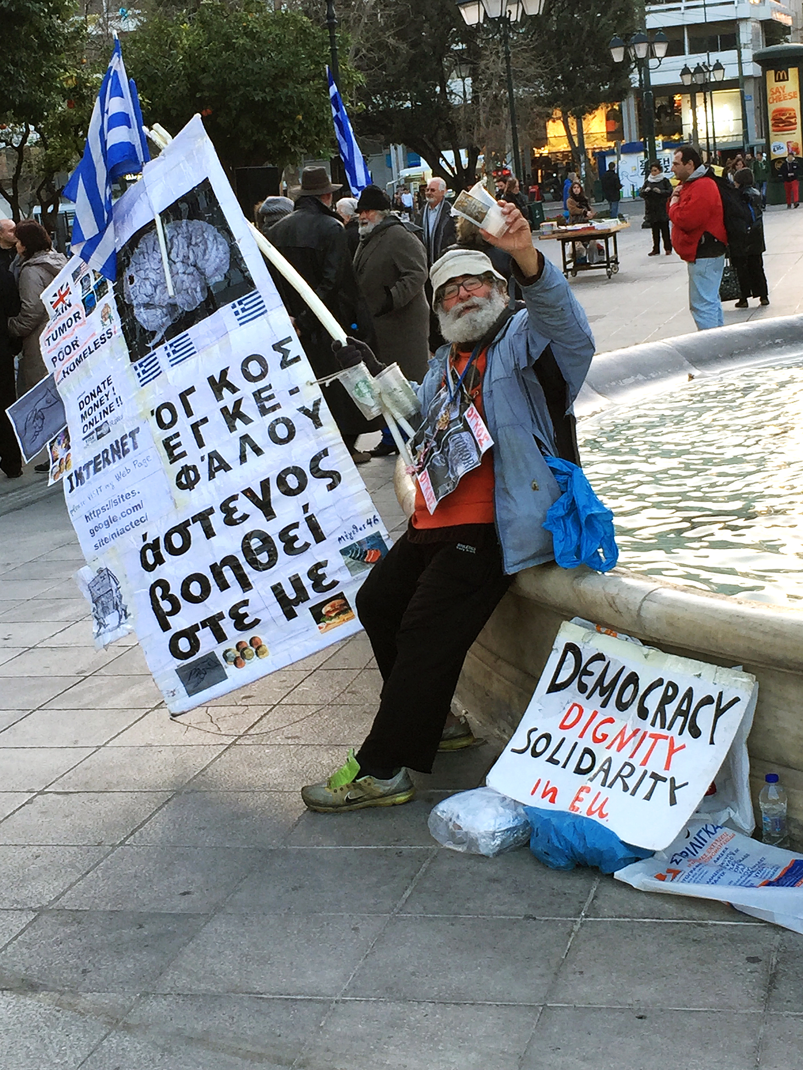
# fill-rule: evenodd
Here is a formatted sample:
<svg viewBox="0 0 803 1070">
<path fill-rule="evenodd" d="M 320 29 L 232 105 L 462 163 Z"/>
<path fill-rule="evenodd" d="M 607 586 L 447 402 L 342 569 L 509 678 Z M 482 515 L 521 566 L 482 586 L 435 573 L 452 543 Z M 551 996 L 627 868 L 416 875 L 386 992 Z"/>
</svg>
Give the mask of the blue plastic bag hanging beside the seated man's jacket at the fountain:
<svg viewBox="0 0 803 1070">
<path fill-rule="evenodd" d="M 588 565 L 607 572 L 619 561 L 613 514 L 593 492 L 582 469 L 561 457 L 544 460 L 562 492 L 544 521 L 544 528 L 552 533 L 555 560 L 561 568 Z"/>
</svg>

